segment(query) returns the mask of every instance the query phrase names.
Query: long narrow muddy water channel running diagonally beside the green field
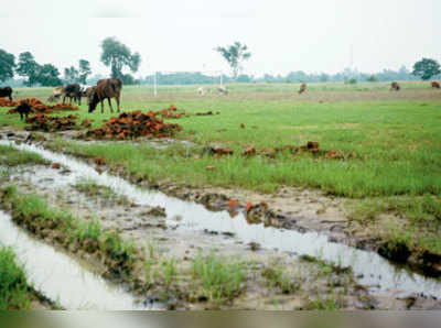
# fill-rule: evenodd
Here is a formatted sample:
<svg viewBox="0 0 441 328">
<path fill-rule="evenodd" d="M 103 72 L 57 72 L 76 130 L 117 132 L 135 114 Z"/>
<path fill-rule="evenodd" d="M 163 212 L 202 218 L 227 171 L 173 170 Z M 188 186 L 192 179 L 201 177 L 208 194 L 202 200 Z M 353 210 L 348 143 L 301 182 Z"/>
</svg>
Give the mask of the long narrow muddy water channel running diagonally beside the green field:
<svg viewBox="0 0 441 328">
<path fill-rule="evenodd" d="M 139 206 L 160 206 L 165 208 L 166 225 L 183 236 L 189 232 L 215 231 L 234 236 L 243 243 L 258 243 L 262 249 L 279 252 L 310 255 L 325 261 L 332 261 L 343 266 L 351 266 L 357 282 L 366 285 L 372 293 L 394 292 L 400 297 L 424 295 L 441 298 L 441 283 L 438 280 L 424 277 L 389 263 L 377 253 L 357 250 L 344 244 L 333 243 L 327 237 L 319 233 L 300 233 L 293 230 L 277 229 L 260 225 L 249 225 L 243 214 L 234 218 L 227 211 L 209 211 L 204 206 L 169 197 L 163 193 L 143 189 L 126 179 L 108 174 L 98 173 L 88 164 L 72 156 L 54 153 L 32 144 L 15 145 L 17 149 L 35 152 L 51 162 L 57 162 L 66 167 L 68 174 L 44 170 L 29 176 L 33 184 L 49 182 L 54 189 L 75 184 L 78 179 L 90 179 L 97 185 L 107 186 L 116 194 L 128 197 Z M 50 176 L 52 175 L 52 176 Z M 176 220 L 176 218 L 180 218 Z"/>
</svg>

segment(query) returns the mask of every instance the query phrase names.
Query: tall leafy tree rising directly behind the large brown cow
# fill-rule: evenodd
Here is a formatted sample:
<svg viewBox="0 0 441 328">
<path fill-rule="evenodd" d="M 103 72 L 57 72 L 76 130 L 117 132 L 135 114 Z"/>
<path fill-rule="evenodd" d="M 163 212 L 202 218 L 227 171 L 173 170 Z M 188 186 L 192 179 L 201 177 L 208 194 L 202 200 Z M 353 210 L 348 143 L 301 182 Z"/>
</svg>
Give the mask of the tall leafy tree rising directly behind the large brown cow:
<svg viewBox="0 0 441 328">
<path fill-rule="evenodd" d="M 122 68 L 129 67 L 131 72 L 137 72 L 141 63 L 139 53 L 131 53 L 130 48 L 120 43 L 115 37 L 107 37 L 101 43 L 101 62 L 111 68 L 111 77 L 123 78 Z"/>
</svg>

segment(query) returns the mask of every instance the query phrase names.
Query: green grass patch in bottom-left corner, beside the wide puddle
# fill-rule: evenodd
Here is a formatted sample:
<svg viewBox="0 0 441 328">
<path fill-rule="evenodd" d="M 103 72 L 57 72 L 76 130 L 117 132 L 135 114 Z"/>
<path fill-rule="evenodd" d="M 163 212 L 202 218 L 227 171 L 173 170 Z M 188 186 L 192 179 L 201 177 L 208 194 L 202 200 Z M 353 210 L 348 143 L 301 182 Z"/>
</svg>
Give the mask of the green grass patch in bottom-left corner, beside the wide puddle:
<svg viewBox="0 0 441 328">
<path fill-rule="evenodd" d="M 30 309 L 31 302 L 23 266 L 11 248 L 0 245 L 0 310 Z"/>
</svg>

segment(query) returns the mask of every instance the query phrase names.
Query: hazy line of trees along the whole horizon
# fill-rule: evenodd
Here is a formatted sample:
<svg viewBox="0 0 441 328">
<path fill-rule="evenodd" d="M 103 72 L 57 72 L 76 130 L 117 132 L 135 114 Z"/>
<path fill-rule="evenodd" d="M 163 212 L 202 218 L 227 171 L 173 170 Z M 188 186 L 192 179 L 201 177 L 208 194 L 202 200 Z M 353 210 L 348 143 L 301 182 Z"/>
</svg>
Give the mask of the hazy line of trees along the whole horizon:
<svg viewBox="0 0 441 328">
<path fill-rule="evenodd" d="M 100 61 L 105 66 L 110 68 L 110 76 L 120 78 L 125 85 L 133 84 L 153 84 L 154 76 L 146 76 L 140 79 L 129 73 L 123 73 L 128 68 L 131 73 L 136 73 L 141 63 L 139 53 L 132 53 L 131 50 L 116 40 L 115 37 L 105 39 L 101 44 Z M 344 72 L 336 74 L 312 73 L 308 74 L 302 70 L 290 72 L 287 75 L 265 74 L 261 77 L 240 74 L 244 68 L 245 61 L 251 57 L 248 46 L 240 42 L 232 45 L 219 46 L 214 51 L 218 52 L 227 62 L 232 69 L 232 75 L 223 75 L 223 80 L 237 83 L 325 83 L 325 81 L 391 81 L 391 80 L 428 80 L 431 78 L 441 78 L 440 64 L 431 58 L 422 58 L 413 65 L 413 69 L 409 70 L 402 66 L 399 70 L 384 69 L 376 74 L 359 73 L 346 68 Z M 90 63 L 86 59 L 79 59 L 78 66 L 64 68 L 64 76 L 61 77 L 58 69 L 52 64 L 40 65 L 35 62 L 30 52 L 21 53 L 15 64 L 13 54 L 4 50 L 0 50 L 0 83 L 12 81 L 14 75 L 22 77 L 25 86 L 58 86 L 62 84 L 79 83 L 95 84 L 100 77 L 92 75 Z M 175 73 L 175 74 L 158 74 L 158 83 L 161 85 L 204 85 L 218 83 L 218 76 L 204 75 L 203 73 Z M 17 81 L 15 81 L 17 83 Z"/>
</svg>

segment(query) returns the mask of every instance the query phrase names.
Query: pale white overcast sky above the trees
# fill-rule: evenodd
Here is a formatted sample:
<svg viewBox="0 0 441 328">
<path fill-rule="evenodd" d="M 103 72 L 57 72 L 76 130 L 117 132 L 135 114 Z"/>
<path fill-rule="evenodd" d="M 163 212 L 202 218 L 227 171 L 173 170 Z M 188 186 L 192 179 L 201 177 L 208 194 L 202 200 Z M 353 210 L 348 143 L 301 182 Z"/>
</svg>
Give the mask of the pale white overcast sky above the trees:
<svg viewBox="0 0 441 328">
<path fill-rule="evenodd" d="M 441 61 L 441 0 L 13 0 L 1 8 L 0 48 L 30 51 L 62 69 L 100 62 L 116 36 L 141 54 L 136 76 L 154 70 L 217 70 L 213 51 L 234 41 L 252 53 L 245 73 L 336 73 L 408 68 Z"/>
</svg>

